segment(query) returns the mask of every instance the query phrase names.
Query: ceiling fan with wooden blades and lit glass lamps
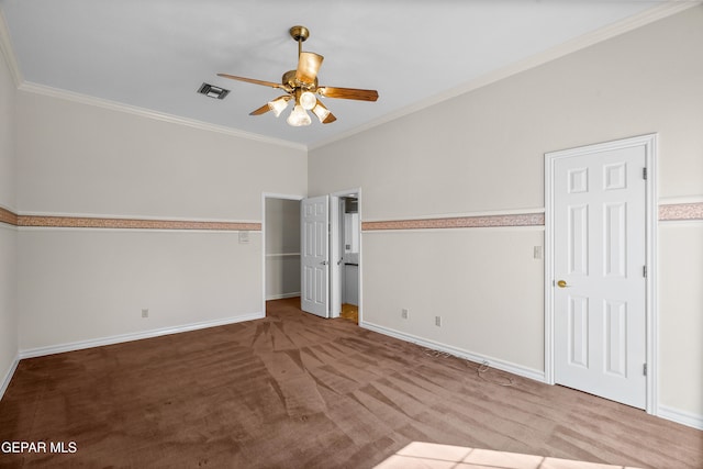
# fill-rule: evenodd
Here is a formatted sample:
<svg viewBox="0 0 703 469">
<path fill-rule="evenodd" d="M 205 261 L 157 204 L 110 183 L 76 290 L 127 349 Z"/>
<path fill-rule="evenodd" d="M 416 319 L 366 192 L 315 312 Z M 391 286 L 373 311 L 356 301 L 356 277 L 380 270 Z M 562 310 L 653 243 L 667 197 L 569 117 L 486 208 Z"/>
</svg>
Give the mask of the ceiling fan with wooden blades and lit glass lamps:
<svg viewBox="0 0 703 469">
<path fill-rule="evenodd" d="M 324 57 L 314 52 L 303 52 L 302 43 L 310 36 L 310 31 L 305 26 L 293 26 L 290 29 L 290 35 L 298 43 L 298 68 L 284 72 L 280 83 L 237 77 L 230 74 L 217 74 L 217 76 L 223 78 L 263 85 L 286 91 L 286 94 L 252 111 L 249 115 L 261 115 L 271 111 L 278 118 L 288 107 L 288 102 L 293 101 L 293 111 L 287 120 L 290 125 L 310 125 L 311 119 L 306 111 L 315 114 L 323 124 L 328 124 L 336 121 L 337 118 L 325 108 L 317 96 L 359 101 L 376 101 L 378 99 L 378 91 L 376 90 L 317 86 L 317 71 Z"/>
</svg>

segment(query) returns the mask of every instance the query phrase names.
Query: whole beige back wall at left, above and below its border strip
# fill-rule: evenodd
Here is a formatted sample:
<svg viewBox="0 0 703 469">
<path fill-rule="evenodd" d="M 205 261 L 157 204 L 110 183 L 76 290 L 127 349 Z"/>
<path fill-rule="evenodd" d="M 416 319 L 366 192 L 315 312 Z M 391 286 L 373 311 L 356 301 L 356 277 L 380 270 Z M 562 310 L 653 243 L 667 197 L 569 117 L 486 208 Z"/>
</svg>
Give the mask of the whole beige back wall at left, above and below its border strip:
<svg viewBox="0 0 703 469">
<path fill-rule="evenodd" d="M 18 158 L 22 214 L 261 223 L 261 193 L 306 191 L 302 149 L 25 91 Z M 259 231 L 21 228 L 20 349 L 261 316 L 261 245 Z"/>
</svg>

